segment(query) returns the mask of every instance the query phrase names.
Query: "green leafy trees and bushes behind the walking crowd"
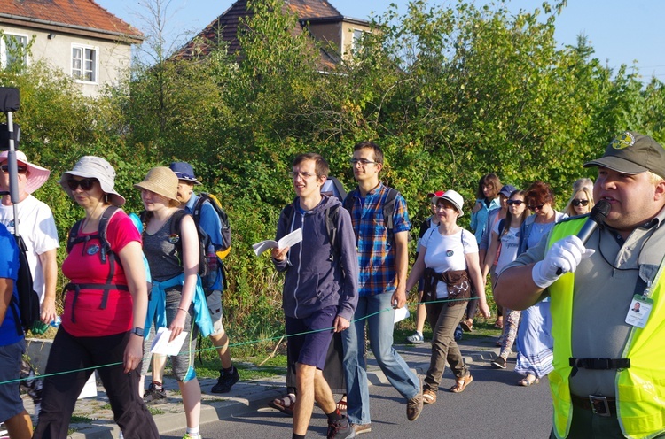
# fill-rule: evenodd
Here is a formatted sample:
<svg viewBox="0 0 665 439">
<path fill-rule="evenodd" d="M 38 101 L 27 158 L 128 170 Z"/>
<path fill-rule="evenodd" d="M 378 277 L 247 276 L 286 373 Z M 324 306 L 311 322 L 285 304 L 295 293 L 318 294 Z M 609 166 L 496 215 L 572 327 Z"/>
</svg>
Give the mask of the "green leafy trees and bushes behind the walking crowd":
<svg viewBox="0 0 665 439">
<path fill-rule="evenodd" d="M 489 172 L 521 188 L 548 181 L 562 207 L 570 184 L 593 176 L 583 162 L 615 133 L 665 141 L 661 81 L 644 84 L 635 66 L 601 65 L 583 35 L 560 47 L 554 29 L 565 3 L 515 14 L 503 3 L 464 0 L 414 0 L 403 14 L 392 5 L 372 19 L 374 32 L 354 58 L 328 73 L 318 64 L 320 46 L 281 0 L 249 4 L 239 64 L 225 44 L 200 42 L 214 46 L 205 58 L 158 54 L 94 99 L 39 63 L 0 71 L 0 83 L 21 90 L 22 148 L 56 177 L 83 154 L 104 156 L 116 166 L 128 210 L 138 211 L 132 184 L 147 169 L 192 163 L 231 217 L 224 301 L 234 336 L 280 332 L 278 277 L 251 244 L 274 234 L 293 197 L 286 173 L 299 152 L 322 153 L 351 188 L 353 145 L 378 142 L 383 179 L 406 196 L 418 224 L 427 192 L 456 189 L 470 206 Z M 56 181 L 37 196 L 53 207 L 64 237 L 81 212 Z"/>
</svg>

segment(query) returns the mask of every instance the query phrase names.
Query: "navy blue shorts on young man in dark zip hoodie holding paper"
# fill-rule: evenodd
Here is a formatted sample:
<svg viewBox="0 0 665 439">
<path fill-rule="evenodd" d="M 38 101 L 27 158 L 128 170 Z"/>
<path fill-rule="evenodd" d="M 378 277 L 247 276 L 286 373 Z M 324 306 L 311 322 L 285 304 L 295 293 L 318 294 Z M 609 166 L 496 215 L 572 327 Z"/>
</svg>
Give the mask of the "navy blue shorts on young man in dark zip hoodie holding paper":
<svg viewBox="0 0 665 439">
<path fill-rule="evenodd" d="M 334 333 L 332 323 L 335 317 L 336 305 L 327 306 L 305 319 L 286 317 L 289 358 L 298 358 L 297 363 L 324 370 L 325 356 Z"/>
</svg>

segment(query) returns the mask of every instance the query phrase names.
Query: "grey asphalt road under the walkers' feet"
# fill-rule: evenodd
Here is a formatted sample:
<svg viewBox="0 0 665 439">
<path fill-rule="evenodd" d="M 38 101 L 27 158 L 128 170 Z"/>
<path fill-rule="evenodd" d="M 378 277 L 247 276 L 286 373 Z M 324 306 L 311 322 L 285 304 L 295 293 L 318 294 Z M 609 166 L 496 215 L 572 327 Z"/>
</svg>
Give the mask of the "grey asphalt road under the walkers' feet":
<svg viewBox="0 0 665 439">
<path fill-rule="evenodd" d="M 549 437 L 552 403 L 547 381 L 523 388 L 515 383 L 520 375 L 493 369 L 489 361 L 472 365 L 473 382 L 461 394 L 450 393 L 453 385 L 449 370 L 443 374 L 436 404 L 426 405 L 419 419 L 406 419 L 403 398 L 390 385 L 370 386 L 372 432 L 360 437 L 409 438 L 445 437 L 450 439 L 496 438 L 533 439 Z M 315 407 L 308 437 L 325 437 L 326 420 Z M 291 437 L 292 419 L 266 407 L 258 412 L 201 426 L 205 439 L 256 439 Z M 165 439 L 180 439 L 177 430 Z"/>
</svg>

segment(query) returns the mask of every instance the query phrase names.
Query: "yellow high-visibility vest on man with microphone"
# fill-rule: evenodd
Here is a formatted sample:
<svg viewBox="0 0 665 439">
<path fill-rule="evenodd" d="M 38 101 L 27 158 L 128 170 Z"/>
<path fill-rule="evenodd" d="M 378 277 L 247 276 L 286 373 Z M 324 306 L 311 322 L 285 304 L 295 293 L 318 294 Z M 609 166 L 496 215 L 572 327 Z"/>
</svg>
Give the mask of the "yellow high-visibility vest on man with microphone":
<svg viewBox="0 0 665 439">
<path fill-rule="evenodd" d="M 548 248 L 559 239 L 575 235 L 586 218 L 557 224 Z M 615 390 L 617 415 L 622 433 L 630 438 L 651 438 L 665 433 L 665 265 L 653 280 L 653 308 L 644 328 L 632 327 L 622 358 L 630 358 L 630 368 L 617 370 Z M 554 371 L 549 375 L 554 404 L 554 433 L 565 438 L 573 419 L 569 378 L 572 367 L 572 319 L 575 273 L 566 273 L 550 286 Z"/>
</svg>

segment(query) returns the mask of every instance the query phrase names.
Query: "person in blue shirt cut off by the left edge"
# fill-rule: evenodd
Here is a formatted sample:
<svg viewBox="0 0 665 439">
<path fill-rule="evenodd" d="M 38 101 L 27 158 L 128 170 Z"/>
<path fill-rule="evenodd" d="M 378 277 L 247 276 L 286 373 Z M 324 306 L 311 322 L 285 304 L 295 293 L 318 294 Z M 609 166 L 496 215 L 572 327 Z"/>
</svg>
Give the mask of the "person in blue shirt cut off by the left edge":
<svg viewBox="0 0 665 439">
<path fill-rule="evenodd" d="M 14 237 L 0 224 L 0 421 L 4 422 L 10 437 L 32 437 L 32 421 L 20 399 L 19 377 L 21 358 L 26 351 L 22 330 L 17 330 L 18 300 L 16 280 L 19 274 L 19 249 Z M 16 310 L 15 315 L 12 307 Z M 7 382 L 12 381 L 12 382 Z"/>
</svg>

